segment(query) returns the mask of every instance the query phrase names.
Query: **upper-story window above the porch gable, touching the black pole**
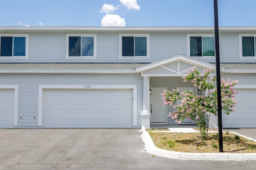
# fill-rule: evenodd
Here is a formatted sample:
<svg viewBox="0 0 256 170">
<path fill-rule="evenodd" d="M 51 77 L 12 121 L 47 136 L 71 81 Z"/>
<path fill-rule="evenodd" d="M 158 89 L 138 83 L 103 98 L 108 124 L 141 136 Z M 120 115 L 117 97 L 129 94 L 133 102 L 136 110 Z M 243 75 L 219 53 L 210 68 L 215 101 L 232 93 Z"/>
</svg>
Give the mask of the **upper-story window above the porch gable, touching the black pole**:
<svg viewBox="0 0 256 170">
<path fill-rule="evenodd" d="M 213 34 L 188 34 L 188 56 L 214 57 L 215 42 Z"/>
</svg>

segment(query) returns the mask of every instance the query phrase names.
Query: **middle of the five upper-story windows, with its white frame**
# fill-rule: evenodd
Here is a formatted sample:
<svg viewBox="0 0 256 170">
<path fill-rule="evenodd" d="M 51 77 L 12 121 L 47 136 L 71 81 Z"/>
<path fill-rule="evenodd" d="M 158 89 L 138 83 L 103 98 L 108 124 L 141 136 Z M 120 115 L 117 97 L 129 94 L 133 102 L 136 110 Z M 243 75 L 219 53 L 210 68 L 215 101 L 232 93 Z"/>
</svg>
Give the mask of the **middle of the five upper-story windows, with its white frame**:
<svg viewBox="0 0 256 170">
<path fill-rule="evenodd" d="M 119 58 L 149 58 L 149 34 L 120 34 L 119 42 Z"/>
</svg>

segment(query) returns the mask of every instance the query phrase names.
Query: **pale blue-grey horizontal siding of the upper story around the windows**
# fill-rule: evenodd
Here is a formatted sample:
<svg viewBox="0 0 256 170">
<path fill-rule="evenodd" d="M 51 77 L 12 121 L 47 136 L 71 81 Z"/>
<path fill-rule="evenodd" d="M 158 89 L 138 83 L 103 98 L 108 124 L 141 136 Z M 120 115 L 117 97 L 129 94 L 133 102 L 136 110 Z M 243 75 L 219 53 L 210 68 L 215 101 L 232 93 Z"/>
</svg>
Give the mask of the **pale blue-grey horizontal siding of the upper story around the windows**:
<svg viewBox="0 0 256 170">
<path fill-rule="evenodd" d="M 1 33 L 5 33 L 2 31 Z M 142 32 L 140 30 L 140 32 Z M 22 32 L 18 32 L 22 34 Z M 147 31 L 150 35 L 149 40 L 149 59 L 119 59 L 120 56 L 120 37 L 119 34 L 127 34 L 126 31 L 111 31 L 111 32 L 87 32 L 81 30 L 72 31 L 74 34 L 96 34 L 96 59 L 86 59 L 86 63 L 150 63 L 171 57 L 177 54 L 188 55 L 187 34 L 213 34 L 213 30 L 200 30 L 196 32 L 163 32 L 163 31 Z M 138 31 L 132 31 L 132 34 L 138 34 Z M 254 57 L 240 58 L 240 43 L 239 34 L 243 31 L 220 31 L 220 62 L 228 63 L 254 63 Z M 84 63 L 84 59 L 66 59 L 66 34 L 68 31 L 60 32 L 29 32 L 28 40 L 28 56 L 26 60 L 15 60 L 10 58 L 1 58 L 2 63 Z M 214 57 L 198 57 L 202 61 L 214 63 Z"/>
</svg>

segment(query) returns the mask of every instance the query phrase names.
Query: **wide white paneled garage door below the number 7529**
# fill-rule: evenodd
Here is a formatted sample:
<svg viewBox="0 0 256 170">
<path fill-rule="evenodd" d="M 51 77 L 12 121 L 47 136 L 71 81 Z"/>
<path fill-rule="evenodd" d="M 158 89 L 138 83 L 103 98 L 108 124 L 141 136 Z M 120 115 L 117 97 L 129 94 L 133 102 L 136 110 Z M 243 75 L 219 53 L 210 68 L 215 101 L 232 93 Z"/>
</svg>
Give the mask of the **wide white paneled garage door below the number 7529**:
<svg viewBox="0 0 256 170">
<path fill-rule="evenodd" d="M 44 128 L 132 128 L 132 89 L 44 89 Z"/>
</svg>

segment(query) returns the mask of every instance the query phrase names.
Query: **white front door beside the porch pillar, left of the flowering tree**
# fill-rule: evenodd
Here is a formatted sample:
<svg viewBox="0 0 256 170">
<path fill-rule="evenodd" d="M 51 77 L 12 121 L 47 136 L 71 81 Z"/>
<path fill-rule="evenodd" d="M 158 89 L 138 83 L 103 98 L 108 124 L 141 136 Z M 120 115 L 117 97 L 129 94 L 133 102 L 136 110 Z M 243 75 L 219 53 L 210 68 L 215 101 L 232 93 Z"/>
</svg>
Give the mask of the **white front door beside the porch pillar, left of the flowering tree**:
<svg viewBox="0 0 256 170">
<path fill-rule="evenodd" d="M 150 122 L 151 123 L 165 123 L 166 121 L 166 106 L 163 103 L 161 94 L 166 88 L 150 88 Z"/>
</svg>

